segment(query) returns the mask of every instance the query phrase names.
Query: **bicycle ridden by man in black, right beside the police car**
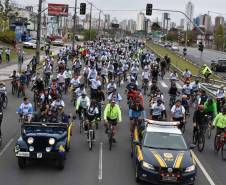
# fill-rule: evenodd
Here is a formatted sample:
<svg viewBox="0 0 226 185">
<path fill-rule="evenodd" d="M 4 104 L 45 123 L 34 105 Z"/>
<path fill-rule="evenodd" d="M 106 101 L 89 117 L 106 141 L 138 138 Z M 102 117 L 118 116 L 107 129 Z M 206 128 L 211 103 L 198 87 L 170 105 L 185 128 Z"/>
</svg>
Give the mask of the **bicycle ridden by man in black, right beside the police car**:
<svg viewBox="0 0 226 185">
<path fill-rule="evenodd" d="M 206 125 L 202 125 L 197 127 L 195 133 L 193 133 L 193 143 L 197 144 L 198 151 L 202 152 L 205 147 L 205 133 L 206 133 Z"/>
</svg>

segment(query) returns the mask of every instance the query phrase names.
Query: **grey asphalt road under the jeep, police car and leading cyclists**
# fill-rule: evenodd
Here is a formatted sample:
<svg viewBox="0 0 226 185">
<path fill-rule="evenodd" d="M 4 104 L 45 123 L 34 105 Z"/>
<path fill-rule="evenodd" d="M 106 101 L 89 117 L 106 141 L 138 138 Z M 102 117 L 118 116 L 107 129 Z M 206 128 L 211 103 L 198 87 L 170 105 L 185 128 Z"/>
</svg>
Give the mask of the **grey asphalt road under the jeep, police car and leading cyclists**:
<svg viewBox="0 0 226 185">
<path fill-rule="evenodd" d="M 159 82 L 159 87 L 165 95 L 166 105 L 169 97 L 169 80 Z M 180 83 L 179 83 L 180 84 Z M 182 84 L 180 84 L 182 85 Z M 96 133 L 96 143 L 93 151 L 89 151 L 86 137 L 78 130 L 78 121 L 73 128 L 71 150 L 67 155 L 65 169 L 58 171 L 49 161 L 32 161 L 27 168 L 20 170 L 17 158 L 13 151 L 16 139 L 20 134 L 20 126 L 16 107 L 21 103 L 11 95 L 8 87 L 9 105 L 5 110 L 3 121 L 3 144 L 0 148 L 0 184 L 1 185 L 136 185 L 135 169 L 130 158 L 130 136 L 128 127 L 126 97 L 123 94 L 124 86 L 119 89 L 123 95 L 121 107 L 123 110 L 123 122 L 119 126 L 116 136 L 117 143 L 112 151 L 108 150 L 107 137 L 104 133 L 103 124 Z M 27 91 L 31 97 L 31 92 Z M 73 111 L 72 103 L 68 96 L 64 96 L 66 112 Z M 147 102 L 148 98 L 145 98 Z M 146 110 L 148 106 L 146 104 Z M 168 108 L 169 110 L 169 108 Z M 186 127 L 185 138 L 191 143 L 192 124 L 191 118 Z M 207 140 L 203 153 L 194 150 L 206 172 L 216 185 L 224 185 L 226 182 L 226 162 L 221 160 L 220 155 L 213 152 L 213 138 Z M 102 153 L 102 158 L 101 154 Z M 102 165 L 101 165 L 102 164 Z M 102 168 L 101 168 L 102 167 Z M 142 183 L 146 184 L 146 183 Z M 201 169 L 198 169 L 197 185 L 210 184 Z M 212 184 L 212 185 L 214 185 Z"/>
</svg>

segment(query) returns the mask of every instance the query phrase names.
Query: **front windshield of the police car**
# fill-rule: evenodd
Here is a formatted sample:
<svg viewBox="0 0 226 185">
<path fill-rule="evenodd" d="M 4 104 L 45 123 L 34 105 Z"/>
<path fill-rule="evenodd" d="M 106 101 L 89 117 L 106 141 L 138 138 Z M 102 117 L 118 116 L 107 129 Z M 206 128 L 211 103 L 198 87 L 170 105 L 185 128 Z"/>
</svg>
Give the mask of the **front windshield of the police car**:
<svg viewBox="0 0 226 185">
<path fill-rule="evenodd" d="M 187 150 L 187 145 L 182 135 L 160 132 L 148 132 L 144 138 L 144 147 Z"/>
</svg>

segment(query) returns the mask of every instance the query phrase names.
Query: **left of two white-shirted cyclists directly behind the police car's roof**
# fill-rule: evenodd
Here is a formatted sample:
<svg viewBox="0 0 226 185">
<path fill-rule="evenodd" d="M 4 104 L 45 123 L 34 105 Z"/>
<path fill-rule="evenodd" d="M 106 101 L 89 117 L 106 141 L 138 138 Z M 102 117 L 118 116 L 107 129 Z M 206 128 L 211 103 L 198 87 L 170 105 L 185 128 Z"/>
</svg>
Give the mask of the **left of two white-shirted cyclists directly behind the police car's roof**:
<svg viewBox="0 0 226 185">
<path fill-rule="evenodd" d="M 165 119 L 167 118 L 166 108 L 160 99 L 158 99 L 157 102 L 152 105 L 150 115 L 150 119 L 157 121 L 162 120 L 163 115 L 165 116 Z"/>
</svg>

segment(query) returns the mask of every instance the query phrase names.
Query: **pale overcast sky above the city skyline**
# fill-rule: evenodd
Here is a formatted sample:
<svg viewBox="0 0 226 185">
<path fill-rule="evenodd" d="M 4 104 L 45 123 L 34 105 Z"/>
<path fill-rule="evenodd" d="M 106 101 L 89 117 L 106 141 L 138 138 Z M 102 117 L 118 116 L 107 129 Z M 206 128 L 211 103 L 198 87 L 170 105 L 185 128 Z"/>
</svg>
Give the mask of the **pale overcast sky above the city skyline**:
<svg viewBox="0 0 226 185">
<path fill-rule="evenodd" d="M 14 2 L 24 5 L 37 5 L 38 0 L 12 0 Z M 74 6 L 75 0 L 45 0 L 48 3 L 65 3 L 70 6 Z M 78 0 L 78 3 L 85 2 L 86 0 Z M 185 11 L 185 4 L 188 0 L 89 0 L 96 7 L 100 9 L 145 9 L 147 3 L 151 2 L 153 8 L 159 9 L 174 9 Z M 199 14 L 208 13 L 208 11 L 219 12 L 225 14 L 226 17 L 226 0 L 191 0 L 194 4 L 194 16 Z M 94 9 L 95 10 L 95 9 Z M 119 20 L 123 19 L 135 19 L 138 12 L 105 12 L 110 13 L 111 17 L 117 17 Z M 217 16 L 215 13 L 210 13 L 212 17 Z M 93 12 L 93 16 L 97 17 L 98 13 Z M 150 17 L 152 20 L 158 17 L 161 21 L 162 13 L 153 11 L 153 15 Z M 170 17 L 172 21 L 179 23 L 182 17 L 180 14 L 171 13 Z M 212 18 L 213 19 L 213 18 Z"/>
</svg>

